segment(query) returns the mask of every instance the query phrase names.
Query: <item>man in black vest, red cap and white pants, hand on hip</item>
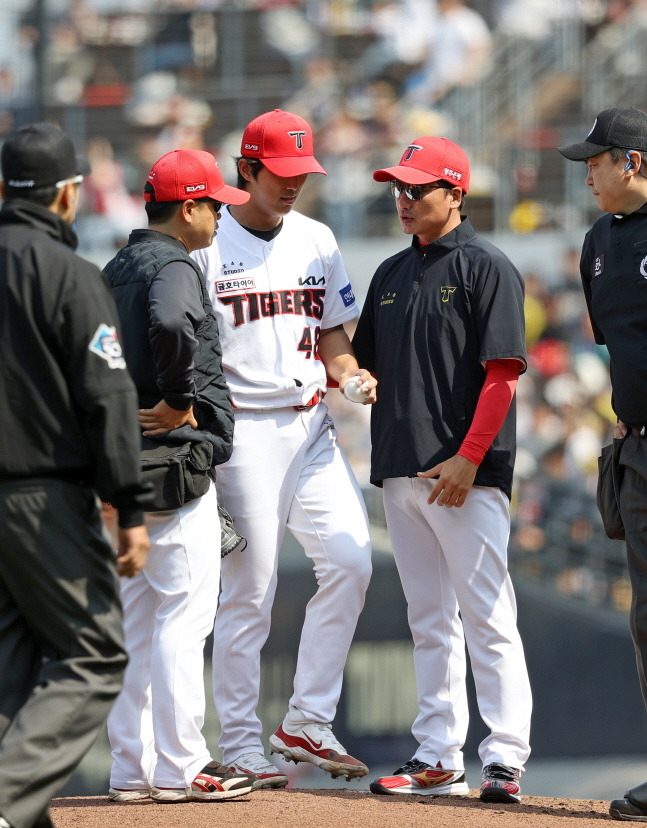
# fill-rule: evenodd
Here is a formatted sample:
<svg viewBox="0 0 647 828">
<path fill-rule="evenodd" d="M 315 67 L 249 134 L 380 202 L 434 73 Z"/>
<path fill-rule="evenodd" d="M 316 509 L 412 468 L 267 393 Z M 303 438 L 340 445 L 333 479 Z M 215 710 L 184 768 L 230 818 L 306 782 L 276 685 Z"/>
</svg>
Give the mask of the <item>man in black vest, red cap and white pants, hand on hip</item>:
<svg viewBox="0 0 647 828">
<path fill-rule="evenodd" d="M 229 458 L 233 411 L 222 372 L 218 323 L 202 271 L 189 253 L 208 247 L 228 187 L 203 150 L 162 156 L 144 189 L 149 226 L 134 230 L 106 265 L 124 330 L 144 434 L 209 440 L 214 464 Z M 175 510 L 145 516 L 151 551 L 123 584 L 124 690 L 108 719 L 113 764 L 109 797 L 183 802 L 249 793 L 255 777 L 212 761 L 204 720 L 204 644 L 220 584 L 216 489 Z M 146 734 L 146 739 L 142 738 Z"/>
</svg>

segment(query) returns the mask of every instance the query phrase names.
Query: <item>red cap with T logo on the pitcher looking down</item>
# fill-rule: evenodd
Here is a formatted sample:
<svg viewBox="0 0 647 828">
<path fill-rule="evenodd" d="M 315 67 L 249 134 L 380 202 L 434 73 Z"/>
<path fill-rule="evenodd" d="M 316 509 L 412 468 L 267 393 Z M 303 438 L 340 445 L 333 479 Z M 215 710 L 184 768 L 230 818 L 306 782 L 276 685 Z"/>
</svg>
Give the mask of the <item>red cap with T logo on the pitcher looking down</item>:
<svg viewBox="0 0 647 828">
<path fill-rule="evenodd" d="M 314 157 L 308 122 L 282 109 L 265 112 L 247 124 L 240 154 L 245 158 L 259 158 L 270 172 L 281 178 L 311 172 L 326 175 Z"/>
</svg>

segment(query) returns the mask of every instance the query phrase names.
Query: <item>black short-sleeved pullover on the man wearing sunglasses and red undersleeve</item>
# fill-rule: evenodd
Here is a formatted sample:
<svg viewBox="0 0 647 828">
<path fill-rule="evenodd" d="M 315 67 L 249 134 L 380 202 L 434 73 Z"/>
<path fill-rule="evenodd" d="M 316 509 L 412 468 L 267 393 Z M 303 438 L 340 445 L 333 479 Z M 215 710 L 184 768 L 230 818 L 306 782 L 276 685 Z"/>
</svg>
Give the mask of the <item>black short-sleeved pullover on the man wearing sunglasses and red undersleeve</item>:
<svg viewBox="0 0 647 828">
<path fill-rule="evenodd" d="M 415 477 L 452 457 L 474 417 L 482 363 L 525 361 L 523 281 L 469 219 L 377 269 L 353 337 L 379 382 L 371 406 L 371 482 Z M 516 447 L 514 401 L 476 473 L 508 497 Z"/>
</svg>

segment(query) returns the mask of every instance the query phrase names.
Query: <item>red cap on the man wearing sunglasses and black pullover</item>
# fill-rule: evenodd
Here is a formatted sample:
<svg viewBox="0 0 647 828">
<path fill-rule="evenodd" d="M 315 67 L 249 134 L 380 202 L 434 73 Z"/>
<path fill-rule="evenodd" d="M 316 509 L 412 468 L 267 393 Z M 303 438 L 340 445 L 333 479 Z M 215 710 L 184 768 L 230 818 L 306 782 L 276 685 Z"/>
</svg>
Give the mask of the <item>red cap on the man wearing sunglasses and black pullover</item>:
<svg viewBox="0 0 647 828">
<path fill-rule="evenodd" d="M 406 148 L 397 167 L 373 173 L 376 181 L 402 181 L 403 184 L 431 184 L 448 181 L 467 193 L 470 187 L 470 162 L 463 150 L 447 138 L 425 135 Z"/>
</svg>

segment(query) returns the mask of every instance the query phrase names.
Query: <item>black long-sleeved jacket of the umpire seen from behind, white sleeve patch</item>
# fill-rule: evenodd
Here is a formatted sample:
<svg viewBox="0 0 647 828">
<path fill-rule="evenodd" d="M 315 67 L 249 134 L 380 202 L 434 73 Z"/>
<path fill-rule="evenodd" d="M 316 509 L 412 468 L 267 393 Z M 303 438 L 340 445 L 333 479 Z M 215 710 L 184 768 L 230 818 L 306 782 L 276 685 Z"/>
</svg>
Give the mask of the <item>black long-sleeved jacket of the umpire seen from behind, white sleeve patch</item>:
<svg viewBox="0 0 647 828">
<path fill-rule="evenodd" d="M 138 526 L 137 395 L 108 286 L 76 245 L 45 207 L 0 211 L 0 479 L 88 483 Z"/>
</svg>

